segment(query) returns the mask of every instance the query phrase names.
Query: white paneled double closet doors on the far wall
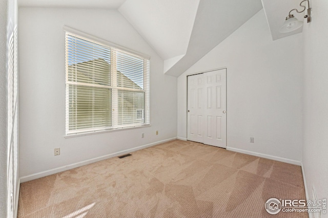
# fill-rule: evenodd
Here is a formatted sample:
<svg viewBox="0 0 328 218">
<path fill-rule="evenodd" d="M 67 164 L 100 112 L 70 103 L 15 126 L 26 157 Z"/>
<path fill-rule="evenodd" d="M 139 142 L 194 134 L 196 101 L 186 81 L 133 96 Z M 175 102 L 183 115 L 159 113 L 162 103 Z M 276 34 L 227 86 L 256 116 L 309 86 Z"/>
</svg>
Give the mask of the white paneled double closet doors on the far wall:
<svg viewBox="0 0 328 218">
<path fill-rule="evenodd" d="M 188 77 L 188 140 L 227 147 L 226 69 Z"/>
</svg>

